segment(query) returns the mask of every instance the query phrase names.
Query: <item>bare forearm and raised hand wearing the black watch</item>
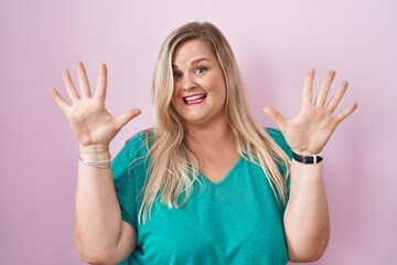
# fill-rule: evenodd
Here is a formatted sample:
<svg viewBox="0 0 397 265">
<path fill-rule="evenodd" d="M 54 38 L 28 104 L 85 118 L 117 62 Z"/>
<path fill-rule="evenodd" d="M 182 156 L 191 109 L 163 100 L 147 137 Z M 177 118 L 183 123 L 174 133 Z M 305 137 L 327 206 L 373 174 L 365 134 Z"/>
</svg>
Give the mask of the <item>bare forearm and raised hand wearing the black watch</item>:
<svg viewBox="0 0 397 265">
<path fill-rule="evenodd" d="M 333 98 L 325 104 L 335 72 L 328 73 L 314 103 L 314 71 L 308 73 L 300 113 L 287 120 L 275 108 L 264 110 L 278 125 L 292 151 L 299 155 L 320 153 L 336 126 L 350 116 L 357 104 L 333 115 L 347 82 L 342 82 Z M 324 253 L 330 240 L 330 216 L 325 195 L 323 166 L 292 160 L 290 199 L 285 212 L 285 231 L 291 262 L 313 262 Z"/>
</svg>

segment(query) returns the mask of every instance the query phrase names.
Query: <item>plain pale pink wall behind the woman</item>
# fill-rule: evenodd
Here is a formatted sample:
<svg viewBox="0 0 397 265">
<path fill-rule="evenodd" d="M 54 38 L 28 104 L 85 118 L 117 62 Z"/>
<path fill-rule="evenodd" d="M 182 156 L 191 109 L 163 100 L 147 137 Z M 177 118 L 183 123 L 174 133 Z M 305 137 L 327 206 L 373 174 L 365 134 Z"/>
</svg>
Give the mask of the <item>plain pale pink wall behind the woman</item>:
<svg viewBox="0 0 397 265">
<path fill-rule="evenodd" d="M 189 21 L 215 23 L 232 43 L 258 119 L 265 105 L 293 116 L 309 67 L 318 83 L 350 81 L 357 112 L 326 146 L 332 237 L 316 264 L 397 264 L 397 1 L 0 0 L 0 264 L 83 264 L 73 243 L 77 145 L 49 88 L 86 63 L 109 68 L 107 106 L 152 123 L 151 75 L 163 39 Z"/>
</svg>

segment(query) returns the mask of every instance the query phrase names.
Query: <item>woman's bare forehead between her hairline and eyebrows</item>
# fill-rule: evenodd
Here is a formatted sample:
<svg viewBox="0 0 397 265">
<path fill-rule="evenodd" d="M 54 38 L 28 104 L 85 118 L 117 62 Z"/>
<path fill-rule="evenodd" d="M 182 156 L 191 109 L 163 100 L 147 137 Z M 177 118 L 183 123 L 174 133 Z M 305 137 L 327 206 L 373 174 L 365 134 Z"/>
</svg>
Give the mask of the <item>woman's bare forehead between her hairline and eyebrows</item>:
<svg viewBox="0 0 397 265">
<path fill-rule="evenodd" d="M 202 40 L 186 41 L 180 44 L 172 57 L 172 64 L 181 66 L 191 64 L 191 62 L 206 59 L 210 61 L 216 60 L 208 45 Z"/>
</svg>

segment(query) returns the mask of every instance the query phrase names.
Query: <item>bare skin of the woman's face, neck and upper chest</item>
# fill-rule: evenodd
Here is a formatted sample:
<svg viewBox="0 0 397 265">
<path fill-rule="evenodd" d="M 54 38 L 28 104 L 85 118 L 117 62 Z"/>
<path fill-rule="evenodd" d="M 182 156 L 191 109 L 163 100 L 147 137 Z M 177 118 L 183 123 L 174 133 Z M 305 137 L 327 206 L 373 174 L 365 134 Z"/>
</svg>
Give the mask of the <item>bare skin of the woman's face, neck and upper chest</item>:
<svg viewBox="0 0 397 265">
<path fill-rule="evenodd" d="M 182 43 L 172 64 L 172 105 L 184 119 L 187 145 L 198 160 L 201 172 L 212 182 L 218 182 L 238 160 L 225 118 L 226 84 L 221 65 L 200 40 Z M 183 99 L 203 94 L 206 97 L 198 104 L 186 105 Z"/>
</svg>

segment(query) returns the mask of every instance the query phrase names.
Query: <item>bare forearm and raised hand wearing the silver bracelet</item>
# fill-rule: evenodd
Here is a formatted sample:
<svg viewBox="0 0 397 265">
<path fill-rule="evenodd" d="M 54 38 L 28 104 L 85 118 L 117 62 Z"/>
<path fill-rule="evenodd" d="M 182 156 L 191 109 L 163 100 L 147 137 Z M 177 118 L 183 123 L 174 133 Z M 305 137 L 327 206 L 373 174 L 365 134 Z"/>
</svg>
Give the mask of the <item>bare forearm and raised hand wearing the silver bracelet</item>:
<svg viewBox="0 0 397 265">
<path fill-rule="evenodd" d="M 63 73 L 72 105 L 52 89 L 55 102 L 64 112 L 79 142 L 79 157 L 104 161 L 110 157 L 109 144 L 121 127 L 140 114 L 131 109 L 112 117 L 105 108 L 107 70 L 103 64 L 96 93 L 92 96 L 84 65 L 77 64 L 81 96 L 67 71 Z M 74 234 L 82 258 L 89 264 L 114 264 L 136 247 L 136 231 L 121 220 L 111 170 L 78 165 Z"/>
</svg>

